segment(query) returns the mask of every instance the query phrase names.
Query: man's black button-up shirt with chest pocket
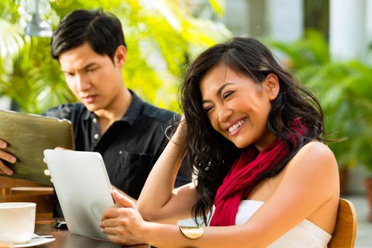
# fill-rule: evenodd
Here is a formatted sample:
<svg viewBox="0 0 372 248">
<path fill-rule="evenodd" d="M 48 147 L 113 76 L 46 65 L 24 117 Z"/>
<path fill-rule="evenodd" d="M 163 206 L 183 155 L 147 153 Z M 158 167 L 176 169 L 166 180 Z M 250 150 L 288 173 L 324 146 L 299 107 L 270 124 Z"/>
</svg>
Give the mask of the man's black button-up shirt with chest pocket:
<svg viewBox="0 0 372 248">
<path fill-rule="evenodd" d="M 111 184 L 137 199 L 154 163 L 167 145 L 165 129 L 179 116 L 145 103 L 133 91 L 130 93 L 133 100 L 128 111 L 103 135 L 96 115 L 81 103 L 63 104 L 45 112 L 45 115 L 71 120 L 75 149 L 101 153 Z M 176 186 L 191 181 L 187 174 L 186 169 L 181 168 Z M 89 176 L 89 171 L 81 176 Z"/>
</svg>

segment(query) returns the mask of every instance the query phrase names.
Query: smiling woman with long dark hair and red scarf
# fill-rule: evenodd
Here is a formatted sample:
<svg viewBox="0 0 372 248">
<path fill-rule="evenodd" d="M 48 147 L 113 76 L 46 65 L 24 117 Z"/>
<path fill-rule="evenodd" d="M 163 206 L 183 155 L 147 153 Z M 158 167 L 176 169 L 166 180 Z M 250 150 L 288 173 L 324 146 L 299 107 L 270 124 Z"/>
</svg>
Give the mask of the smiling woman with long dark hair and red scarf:
<svg viewBox="0 0 372 248">
<path fill-rule="evenodd" d="M 271 52 L 253 38 L 210 47 L 188 67 L 181 98 L 185 121 L 137 205 L 113 192 L 123 208 L 103 213 L 108 239 L 155 247 L 327 247 L 339 202 L 337 162 L 322 143 L 319 103 Z M 185 154 L 196 181 L 174 189 Z M 166 224 L 191 216 L 208 226 Z"/>
</svg>

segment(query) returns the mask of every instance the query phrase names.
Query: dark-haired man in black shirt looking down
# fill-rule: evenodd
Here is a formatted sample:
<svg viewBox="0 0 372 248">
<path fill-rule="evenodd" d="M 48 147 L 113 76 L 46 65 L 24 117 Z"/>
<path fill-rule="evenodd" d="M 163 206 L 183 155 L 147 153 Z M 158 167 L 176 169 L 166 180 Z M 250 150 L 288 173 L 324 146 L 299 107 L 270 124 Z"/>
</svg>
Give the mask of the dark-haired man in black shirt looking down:
<svg viewBox="0 0 372 248">
<path fill-rule="evenodd" d="M 52 57 L 81 103 L 63 104 L 45 115 L 71 120 L 76 150 L 101 153 L 111 184 L 138 198 L 167 143 L 164 131 L 175 114 L 143 102 L 125 87 L 126 45 L 115 16 L 100 10 L 73 11 L 56 28 L 51 46 Z M 0 147 L 6 145 L 0 140 Z M 2 150 L 0 159 L 16 162 Z M 1 170 L 12 173 L 0 161 Z M 189 181 L 184 170 L 176 186 Z"/>
</svg>

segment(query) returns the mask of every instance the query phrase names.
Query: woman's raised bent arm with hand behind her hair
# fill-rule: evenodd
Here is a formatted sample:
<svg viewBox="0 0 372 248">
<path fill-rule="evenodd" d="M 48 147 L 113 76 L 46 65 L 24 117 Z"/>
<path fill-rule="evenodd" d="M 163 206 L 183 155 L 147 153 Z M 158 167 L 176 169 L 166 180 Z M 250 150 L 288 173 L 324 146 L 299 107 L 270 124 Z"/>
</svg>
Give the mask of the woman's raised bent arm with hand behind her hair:
<svg viewBox="0 0 372 248">
<path fill-rule="evenodd" d="M 186 154 L 183 120 L 154 164 L 137 201 L 145 220 L 174 222 L 191 217 L 198 196 L 193 183 L 174 189 L 177 171 Z"/>
</svg>

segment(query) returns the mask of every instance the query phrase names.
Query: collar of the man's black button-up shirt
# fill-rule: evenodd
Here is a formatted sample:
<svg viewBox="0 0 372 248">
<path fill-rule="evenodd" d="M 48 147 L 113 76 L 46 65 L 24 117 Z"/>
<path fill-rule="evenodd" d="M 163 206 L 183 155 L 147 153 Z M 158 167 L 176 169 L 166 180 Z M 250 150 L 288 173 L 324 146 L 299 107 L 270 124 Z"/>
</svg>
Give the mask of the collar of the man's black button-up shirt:
<svg viewBox="0 0 372 248">
<path fill-rule="evenodd" d="M 137 96 L 137 94 L 135 94 L 134 91 L 132 91 L 131 89 L 128 90 L 130 91 L 130 94 L 132 94 L 132 101 L 130 102 L 130 106 L 128 107 L 127 111 L 118 121 L 124 121 L 129 125 L 133 125 L 138 115 L 140 115 L 140 111 L 144 102 L 139 96 Z M 96 118 L 96 114 L 86 110 L 83 119 L 89 120 L 89 118 Z"/>
</svg>

